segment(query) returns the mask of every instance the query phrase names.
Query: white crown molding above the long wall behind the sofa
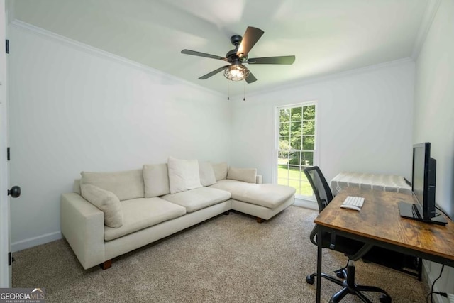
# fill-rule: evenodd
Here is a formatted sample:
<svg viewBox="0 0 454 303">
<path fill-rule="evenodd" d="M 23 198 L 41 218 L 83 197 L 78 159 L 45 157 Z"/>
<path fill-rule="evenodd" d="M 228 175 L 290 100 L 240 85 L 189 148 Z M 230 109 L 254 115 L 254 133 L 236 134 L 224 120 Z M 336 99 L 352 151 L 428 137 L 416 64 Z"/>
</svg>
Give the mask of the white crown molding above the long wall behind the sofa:
<svg viewBox="0 0 454 303">
<path fill-rule="evenodd" d="M 126 59 L 125 57 L 114 55 L 113 53 L 106 52 L 105 50 L 101 50 L 99 48 L 94 48 L 93 46 L 87 45 L 87 44 L 79 42 L 77 40 L 73 40 L 73 39 L 67 38 L 63 35 L 59 35 L 57 33 L 51 32 L 51 31 L 47 31 L 43 28 L 39 28 L 38 26 L 33 26 L 30 23 L 26 23 L 26 22 L 15 19 L 15 20 L 11 21 L 9 26 L 18 28 L 19 30 L 22 30 L 22 31 L 28 31 L 31 33 L 35 33 L 37 35 L 40 35 L 43 38 L 50 39 L 57 43 L 61 43 L 62 45 L 69 46 L 70 48 L 74 48 L 76 50 L 83 51 L 84 53 L 88 53 L 90 55 L 96 55 L 97 57 L 101 57 L 104 59 L 111 60 L 113 62 L 121 63 L 123 65 L 127 65 L 128 67 L 133 67 L 137 70 L 147 72 L 151 75 L 155 75 L 157 77 L 168 79 L 168 80 L 170 80 L 170 82 L 177 82 L 177 83 L 179 82 L 186 86 L 194 87 L 196 89 L 202 90 L 204 92 L 208 92 L 210 94 L 214 94 L 214 95 L 222 97 L 222 98 L 224 97 L 223 94 L 221 94 L 220 92 L 216 92 L 215 90 L 207 89 L 206 87 L 202 87 L 200 85 L 194 84 L 185 79 L 181 79 L 179 77 L 175 77 L 175 76 L 167 74 L 165 72 L 161 72 L 160 70 L 156 70 L 153 67 L 149 67 L 147 65 L 140 64 L 133 60 Z"/>
</svg>

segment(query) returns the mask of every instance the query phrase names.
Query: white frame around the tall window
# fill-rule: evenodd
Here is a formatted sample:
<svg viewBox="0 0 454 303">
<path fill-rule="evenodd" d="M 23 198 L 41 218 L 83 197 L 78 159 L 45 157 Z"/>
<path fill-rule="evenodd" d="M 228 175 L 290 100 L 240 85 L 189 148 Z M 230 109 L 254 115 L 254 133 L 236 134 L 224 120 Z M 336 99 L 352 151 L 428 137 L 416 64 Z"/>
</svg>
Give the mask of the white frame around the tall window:
<svg viewBox="0 0 454 303">
<path fill-rule="evenodd" d="M 275 144 L 274 144 L 274 150 L 273 150 L 273 182 L 277 184 L 277 155 L 279 153 L 279 112 L 281 109 L 291 109 L 293 107 L 302 107 L 302 106 L 315 106 L 315 131 L 314 131 L 314 159 L 313 159 L 313 165 L 319 165 L 319 111 L 320 111 L 320 106 L 318 101 L 303 101 L 301 103 L 296 103 L 296 104 L 286 104 L 282 106 L 276 106 L 275 108 Z M 304 151 L 304 150 L 301 150 Z M 295 199 L 301 200 L 301 201 L 310 201 L 310 202 L 315 202 L 316 199 L 314 197 L 314 194 L 311 196 L 304 196 L 301 194 L 295 194 Z"/>
</svg>

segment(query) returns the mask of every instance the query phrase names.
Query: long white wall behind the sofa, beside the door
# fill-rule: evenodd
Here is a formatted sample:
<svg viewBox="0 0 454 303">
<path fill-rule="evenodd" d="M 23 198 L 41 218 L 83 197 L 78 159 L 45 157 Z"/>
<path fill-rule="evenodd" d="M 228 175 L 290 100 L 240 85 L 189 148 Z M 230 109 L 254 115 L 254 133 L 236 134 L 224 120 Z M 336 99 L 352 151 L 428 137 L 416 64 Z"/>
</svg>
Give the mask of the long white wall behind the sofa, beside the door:
<svg viewBox="0 0 454 303">
<path fill-rule="evenodd" d="M 10 45 L 13 250 L 60 238 L 60 194 L 82 170 L 229 160 L 224 96 L 18 26 Z"/>
</svg>

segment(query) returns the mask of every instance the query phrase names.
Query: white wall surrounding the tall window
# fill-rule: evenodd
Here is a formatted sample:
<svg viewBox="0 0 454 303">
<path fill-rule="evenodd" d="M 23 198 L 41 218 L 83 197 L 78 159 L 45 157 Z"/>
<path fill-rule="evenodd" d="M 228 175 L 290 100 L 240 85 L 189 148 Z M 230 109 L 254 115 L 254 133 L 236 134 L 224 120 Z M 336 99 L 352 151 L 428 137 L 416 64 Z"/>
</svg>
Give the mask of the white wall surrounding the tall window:
<svg viewBox="0 0 454 303">
<path fill-rule="evenodd" d="M 402 60 L 235 98 L 231 164 L 273 180 L 275 108 L 317 100 L 319 165 L 338 172 L 411 176 L 414 62 Z"/>
</svg>

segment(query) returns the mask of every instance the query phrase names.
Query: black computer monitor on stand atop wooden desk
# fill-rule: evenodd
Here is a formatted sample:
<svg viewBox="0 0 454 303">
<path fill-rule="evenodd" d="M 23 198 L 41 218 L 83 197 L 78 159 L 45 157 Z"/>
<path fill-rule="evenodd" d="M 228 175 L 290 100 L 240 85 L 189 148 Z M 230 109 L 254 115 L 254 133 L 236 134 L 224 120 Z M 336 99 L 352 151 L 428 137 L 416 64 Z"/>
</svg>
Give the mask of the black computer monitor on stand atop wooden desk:
<svg viewBox="0 0 454 303">
<path fill-rule="evenodd" d="M 399 203 L 400 215 L 434 224 L 446 224 L 436 211 L 436 160 L 431 158 L 431 143 L 413 145 L 411 192 L 414 204 Z"/>
</svg>

